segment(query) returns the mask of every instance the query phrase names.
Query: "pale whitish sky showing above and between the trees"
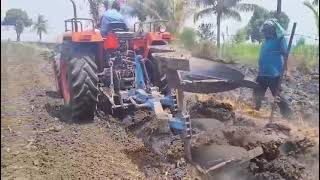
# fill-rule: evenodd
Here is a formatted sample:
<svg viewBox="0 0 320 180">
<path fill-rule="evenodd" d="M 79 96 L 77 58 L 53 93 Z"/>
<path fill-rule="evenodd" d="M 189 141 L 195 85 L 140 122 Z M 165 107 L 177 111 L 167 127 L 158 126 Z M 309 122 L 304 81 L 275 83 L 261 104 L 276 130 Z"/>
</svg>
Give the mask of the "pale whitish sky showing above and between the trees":
<svg viewBox="0 0 320 180">
<path fill-rule="evenodd" d="M 90 17 L 88 11 L 87 0 L 76 0 L 78 3 L 78 17 Z M 275 10 L 277 0 L 244 0 L 243 2 L 255 3 L 265 9 Z M 282 11 L 290 18 L 289 29 L 293 22 L 297 22 L 297 34 L 308 35 L 312 38 L 306 38 L 307 42 L 314 43 L 317 36 L 317 28 L 311 11 L 303 4 L 303 0 L 282 0 Z M 1 0 L 1 19 L 5 16 L 5 12 L 10 8 L 20 8 L 25 10 L 30 18 L 36 19 L 39 14 L 45 16 L 48 20 L 48 34 L 44 35 L 43 41 L 55 42 L 64 31 L 64 20 L 73 17 L 72 5 L 69 0 Z M 242 13 L 242 21 L 225 20 L 222 22 L 222 32 L 226 32 L 228 27 L 229 34 L 235 34 L 237 30 L 244 27 L 252 13 Z M 214 17 L 208 17 L 208 20 L 215 23 Z M 187 26 L 193 25 L 193 18 L 190 17 L 186 21 Z M 1 27 L 1 39 L 15 39 L 16 35 L 12 28 Z M 21 35 L 21 39 L 25 41 L 37 40 L 34 31 L 26 29 Z"/>
</svg>

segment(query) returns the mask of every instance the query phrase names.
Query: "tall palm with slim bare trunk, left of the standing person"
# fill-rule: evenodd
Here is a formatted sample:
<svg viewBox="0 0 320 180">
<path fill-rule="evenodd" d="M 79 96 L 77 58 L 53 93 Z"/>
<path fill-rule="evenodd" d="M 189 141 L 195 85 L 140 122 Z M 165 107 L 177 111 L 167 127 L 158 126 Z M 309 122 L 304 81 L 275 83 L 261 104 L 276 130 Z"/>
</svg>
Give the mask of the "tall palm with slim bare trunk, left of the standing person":
<svg viewBox="0 0 320 180">
<path fill-rule="evenodd" d="M 255 4 L 240 3 L 241 0 L 203 0 L 204 9 L 197 12 L 194 16 L 195 21 L 199 18 L 216 14 L 217 20 L 217 46 L 220 47 L 220 28 L 221 20 L 225 18 L 232 18 L 241 21 L 239 11 L 254 11 L 260 8 Z"/>
</svg>

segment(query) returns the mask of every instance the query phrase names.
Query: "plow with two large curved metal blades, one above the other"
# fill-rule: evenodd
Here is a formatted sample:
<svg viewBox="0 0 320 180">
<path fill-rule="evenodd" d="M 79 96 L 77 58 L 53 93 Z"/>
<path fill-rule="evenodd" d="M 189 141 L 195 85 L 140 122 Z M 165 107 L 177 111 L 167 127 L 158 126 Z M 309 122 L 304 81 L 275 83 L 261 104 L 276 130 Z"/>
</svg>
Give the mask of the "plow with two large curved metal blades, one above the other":
<svg viewBox="0 0 320 180">
<path fill-rule="evenodd" d="M 215 119 L 190 119 L 184 104 L 184 92 L 190 93 L 218 93 L 239 87 L 257 88 L 255 82 L 244 80 L 244 75 L 227 65 L 198 58 L 186 58 L 174 53 L 154 54 L 165 69 L 169 87 L 177 92 L 177 115 L 169 120 L 170 128 L 174 132 L 181 132 L 184 141 L 185 157 L 197 169 L 210 177 L 215 171 L 225 167 L 240 166 L 243 163 L 261 155 L 263 150 L 257 147 L 250 151 L 242 147 L 230 145 L 203 145 L 192 147 L 193 124 L 198 133 L 215 128 Z M 210 125 L 212 127 L 210 127 Z"/>
</svg>

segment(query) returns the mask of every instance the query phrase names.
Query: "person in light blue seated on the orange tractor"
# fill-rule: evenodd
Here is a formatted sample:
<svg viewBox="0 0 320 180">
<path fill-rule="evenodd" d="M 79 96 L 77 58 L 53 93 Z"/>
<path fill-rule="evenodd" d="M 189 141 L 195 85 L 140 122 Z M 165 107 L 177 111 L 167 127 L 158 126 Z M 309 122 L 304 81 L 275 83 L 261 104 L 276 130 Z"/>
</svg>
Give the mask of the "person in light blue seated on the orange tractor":
<svg viewBox="0 0 320 180">
<path fill-rule="evenodd" d="M 101 19 L 100 32 L 103 37 L 105 37 L 109 32 L 114 29 L 127 30 L 127 25 L 123 16 L 120 14 L 120 4 L 114 1 L 111 9 L 108 9 L 108 0 L 104 1 L 104 6 L 106 11 L 103 13 Z"/>
</svg>

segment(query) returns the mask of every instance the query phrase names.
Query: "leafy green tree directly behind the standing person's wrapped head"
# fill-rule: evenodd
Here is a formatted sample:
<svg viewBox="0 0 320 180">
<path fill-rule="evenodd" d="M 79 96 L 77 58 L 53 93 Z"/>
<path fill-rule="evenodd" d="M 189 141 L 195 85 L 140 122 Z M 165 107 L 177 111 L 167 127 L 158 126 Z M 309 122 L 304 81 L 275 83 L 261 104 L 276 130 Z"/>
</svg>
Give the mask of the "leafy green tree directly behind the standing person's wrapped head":
<svg viewBox="0 0 320 180">
<path fill-rule="evenodd" d="M 276 11 L 268 11 L 263 8 L 256 9 L 251 16 L 248 25 L 246 26 L 247 37 L 250 37 L 252 42 L 258 41 L 261 43 L 263 39 L 263 34 L 260 31 L 261 26 L 266 20 L 270 18 L 276 18 L 276 15 Z M 284 12 L 280 13 L 278 20 L 284 29 L 288 28 L 290 19 Z"/>
</svg>

